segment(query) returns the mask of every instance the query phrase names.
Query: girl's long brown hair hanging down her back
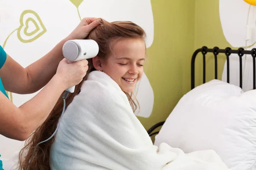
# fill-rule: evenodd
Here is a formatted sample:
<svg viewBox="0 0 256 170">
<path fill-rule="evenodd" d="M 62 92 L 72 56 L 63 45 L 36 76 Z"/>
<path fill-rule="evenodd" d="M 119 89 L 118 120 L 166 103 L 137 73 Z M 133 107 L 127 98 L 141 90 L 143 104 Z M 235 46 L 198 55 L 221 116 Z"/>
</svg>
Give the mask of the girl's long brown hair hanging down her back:
<svg viewBox="0 0 256 170">
<path fill-rule="evenodd" d="M 111 48 L 113 46 L 113 40 L 118 38 L 135 38 L 145 40 L 145 32 L 140 26 L 130 21 L 115 21 L 109 23 L 102 19 L 102 23 L 94 28 L 86 39 L 95 40 L 99 45 L 98 56 L 106 59 L 108 57 L 108 54 L 110 54 L 112 51 Z M 80 88 L 83 82 L 87 79 L 88 74 L 91 71 L 95 71 L 92 59 L 88 59 L 88 66 L 89 69 L 83 81 L 79 83 L 79 85 L 76 85 L 75 92 L 69 94 L 69 96 L 67 97 L 66 108 L 72 102 L 73 98 L 77 94 L 79 94 Z M 128 97 L 133 111 L 135 112 L 135 110 L 137 109 L 137 100 L 133 96 L 134 94 L 125 94 Z M 32 156 L 35 156 L 35 158 L 30 163 L 31 170 L 50 170 L 50 150 L 51 145 L 54 142 L 54 137 L 49 141 L 40 144 L 37 147 L 35 155 L 34 149 L 39 142 L 48 139 L 52 135 L 52 133 L 54 133 L 58 124 L 58 120 L 61 116 L 62 109 L 63 99 L 60 97 L 45 122 L 29 136 L 29 138 L 25 142 L 25 147 L 20 150 L 18 164 L 19 170 L 27 170 L 29 160 L 32 158 Z"/>
</svg>

